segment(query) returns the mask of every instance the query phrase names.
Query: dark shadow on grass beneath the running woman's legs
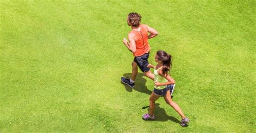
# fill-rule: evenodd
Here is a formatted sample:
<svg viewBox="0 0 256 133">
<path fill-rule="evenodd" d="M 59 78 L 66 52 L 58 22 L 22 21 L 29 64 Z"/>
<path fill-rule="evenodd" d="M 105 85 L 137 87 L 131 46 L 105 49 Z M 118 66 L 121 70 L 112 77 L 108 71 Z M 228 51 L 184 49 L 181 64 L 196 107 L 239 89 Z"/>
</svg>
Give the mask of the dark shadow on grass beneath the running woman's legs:
<svg viewBox="0 0 256 133">
<path fill-rule="evenodd" d="M 167 115 L 166 111 L 163 108 L 160 108 L 159 105 L 160 105 L 159 103 L 156 103 L 156 108 L 154 109 L 154 115 L 156 116 L 156 119 L 154 121 L 165 122 L 170 120 L 172 122 L 181 124 L 181 122 L 177 118 Z M 146 109 L 146 108 L 148 108 L 147 110 L 149 110 L 149 106 L 145 106 L 142 109 Z M 188 124 L 186 124 L 185 127 L 188 127 Z"/>
</svg>

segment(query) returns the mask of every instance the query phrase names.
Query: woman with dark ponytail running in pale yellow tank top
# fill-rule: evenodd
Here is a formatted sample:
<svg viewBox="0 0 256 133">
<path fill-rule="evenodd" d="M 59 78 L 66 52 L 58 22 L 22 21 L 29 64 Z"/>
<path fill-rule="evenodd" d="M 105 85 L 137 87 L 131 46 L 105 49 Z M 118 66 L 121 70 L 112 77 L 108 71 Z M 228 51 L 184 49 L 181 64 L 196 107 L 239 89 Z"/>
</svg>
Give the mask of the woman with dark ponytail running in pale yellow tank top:
<svg viewBox="0 0 256 133">
<path fill-rule="evenodd" d="M 144 120 L 154 120 L 156 116 L 154 116 L 154 108 L 156 105 L 156 101 L 160 96 L 164 96 L 164 99 L 167 104 L 169 104 L 172 108 L 174 108 L 177 113 L 181 116 L 181 126 L 185 126 L 186 123 L 190 122 L 190 120 L 183 114 L 180 107 L 177 103 L 172 101 L 171 94 L 173 92 L 175 81 L 169 75 L 171 66 L 172 66 L 172 57 L 170 54 L 167 54 L 165 51 L 158 51 L 156 57 L 154 58 L 158 63 L 156 66 L 151 64 L 147 65 L 147 67 L 154 68 L 154 90 L 150 96 L 150 108 L 149 113 L 143 115 Z"/>
</svg>

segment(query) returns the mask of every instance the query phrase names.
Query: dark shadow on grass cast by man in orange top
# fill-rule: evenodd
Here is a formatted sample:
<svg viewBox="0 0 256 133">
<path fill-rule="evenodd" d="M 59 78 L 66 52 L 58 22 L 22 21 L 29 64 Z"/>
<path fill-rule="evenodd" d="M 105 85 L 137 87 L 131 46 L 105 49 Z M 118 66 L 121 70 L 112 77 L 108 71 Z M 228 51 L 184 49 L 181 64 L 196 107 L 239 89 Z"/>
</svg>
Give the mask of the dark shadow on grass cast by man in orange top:
<svg viewBox="0 0 256 133">
<path fill-rule="evenodd" d="M 125 73 L 123 76 L 124 77 L 131 77 L 131 73 Z M 145 76 L 144 73 L 138 73 L 136 76 L 136 82 L 135 82 L 135 86 L 133 88 L 125 85 L 124 83 L 122 83 L 126 89 L 127 92 L 132 92 L 132 89 L 141 92 L 141 93 L 145 93 L 148 95 L 151 95 L 152 91 L 147 89 L 146 87 L 146 79 L 143 78 L 143 76 Z"/>
</svg>

